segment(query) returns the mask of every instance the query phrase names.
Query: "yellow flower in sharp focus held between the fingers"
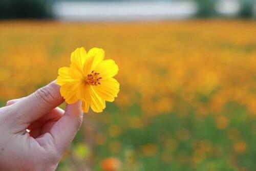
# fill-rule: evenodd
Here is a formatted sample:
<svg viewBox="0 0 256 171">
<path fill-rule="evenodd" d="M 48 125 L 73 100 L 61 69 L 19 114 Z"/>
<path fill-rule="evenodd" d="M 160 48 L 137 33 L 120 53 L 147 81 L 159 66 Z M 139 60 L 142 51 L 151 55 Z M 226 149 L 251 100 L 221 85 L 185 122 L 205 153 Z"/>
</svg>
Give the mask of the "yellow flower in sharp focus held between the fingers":
<svg viewBox="0 0 256 171">
<path fill-rule="evenodd" d="M 104 50 L 92 48 L 87 53 L 77 48 L 71 54 L 70 67 L 58 70 L 57 84 L 60 94 L 69 104 L 82 101 L 83 112 L 91 109 L 102 112 L 105 101 L 114 101 L 119 92 L 119 83 L 113 78 L 118 66 L 112 59 L 103 60 Z"/>
</svg>

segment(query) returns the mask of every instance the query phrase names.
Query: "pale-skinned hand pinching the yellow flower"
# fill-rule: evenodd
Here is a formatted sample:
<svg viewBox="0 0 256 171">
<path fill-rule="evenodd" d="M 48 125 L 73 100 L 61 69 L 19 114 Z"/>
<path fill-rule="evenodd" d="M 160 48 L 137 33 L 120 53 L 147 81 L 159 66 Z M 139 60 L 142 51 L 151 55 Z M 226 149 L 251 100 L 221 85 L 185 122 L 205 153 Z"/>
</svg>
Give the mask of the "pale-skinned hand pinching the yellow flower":
<svg viewBox="0 0 256 171">
<path fill-rule="evenodd" d="M 0 170 L 56 169 L 83 116 L 80 101 L 57 107 L 64 101 L 59 88 L 51 82 L 0 108 Z"/>
</svg>

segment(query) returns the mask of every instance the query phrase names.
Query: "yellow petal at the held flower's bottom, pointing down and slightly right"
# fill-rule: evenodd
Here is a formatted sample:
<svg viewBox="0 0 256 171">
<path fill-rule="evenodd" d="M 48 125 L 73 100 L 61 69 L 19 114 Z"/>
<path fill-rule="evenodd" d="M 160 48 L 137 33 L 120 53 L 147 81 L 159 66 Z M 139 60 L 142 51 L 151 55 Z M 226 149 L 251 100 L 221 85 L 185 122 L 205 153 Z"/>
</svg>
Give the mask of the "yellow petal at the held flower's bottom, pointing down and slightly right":
<svg viewBox="0 0 256 171">
<path fill-rule="evenodd" d="M 103 100 L 101 97 L 97 95 L 97 93 L 93 89 L 93 86 L 91 86 L 90 95 L 92 110 L 96 113 L 102 112 L 103 109 L 105 109 L 106 107 L 105 100 Z"/>
</svg>

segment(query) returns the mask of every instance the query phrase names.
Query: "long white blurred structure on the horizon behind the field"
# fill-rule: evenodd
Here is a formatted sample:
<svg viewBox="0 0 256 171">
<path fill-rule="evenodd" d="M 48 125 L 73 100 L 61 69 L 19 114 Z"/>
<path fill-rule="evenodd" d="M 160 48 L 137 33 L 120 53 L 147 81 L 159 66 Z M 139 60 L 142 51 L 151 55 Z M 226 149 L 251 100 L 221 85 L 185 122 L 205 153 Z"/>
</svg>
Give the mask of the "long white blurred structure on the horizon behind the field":
<svg viewBox="0 0 256 171">
<path fill-rule="evenodd" d="M 187 2 L 57 2 L 53 6 L 60 20 L 159 20 L 185 19 L 197 12 Z"/>
</svg>

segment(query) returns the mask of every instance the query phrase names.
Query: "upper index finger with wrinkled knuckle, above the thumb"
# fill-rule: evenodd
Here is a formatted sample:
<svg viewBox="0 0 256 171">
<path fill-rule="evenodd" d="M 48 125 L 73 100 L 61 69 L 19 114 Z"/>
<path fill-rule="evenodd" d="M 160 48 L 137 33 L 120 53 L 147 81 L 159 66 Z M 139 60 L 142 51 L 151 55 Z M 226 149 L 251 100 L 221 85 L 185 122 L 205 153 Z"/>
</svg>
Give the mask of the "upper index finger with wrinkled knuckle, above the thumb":
<svg viewBox="0 0 256 171">
<path fill-rule="evenodd" d="M 18 115 L 14 112 L 14 117 L 18 116 L 18 119 L 25 124 L 41 118 L 64 101 L 59 88 L 55 82 L 51 82 L 33 94 L 18 100 L 12 105 L 14 111 L 18 111 Z"/>
</svg>

